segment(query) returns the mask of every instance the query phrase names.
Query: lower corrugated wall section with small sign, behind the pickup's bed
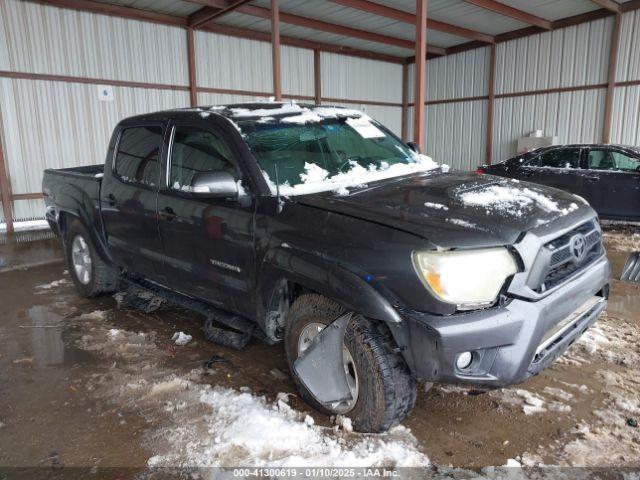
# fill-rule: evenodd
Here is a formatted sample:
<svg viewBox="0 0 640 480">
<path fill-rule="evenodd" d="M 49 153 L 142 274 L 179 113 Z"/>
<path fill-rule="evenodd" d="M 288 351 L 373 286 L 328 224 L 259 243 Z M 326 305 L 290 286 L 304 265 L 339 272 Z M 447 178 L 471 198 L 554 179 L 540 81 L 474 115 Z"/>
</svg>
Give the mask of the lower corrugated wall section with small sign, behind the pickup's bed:
<svg viewBox="0 0 640 480">
<path fill-rule="evenodd" d="M 41 191 L 45 168 L 104 162 L 111 131 L 122 118 L 189 103 L 188 92 L 0 79 L 3 138 L 14 194 Z M 26 168 L 25 168 L 26 167 Z"/>
</svg>

